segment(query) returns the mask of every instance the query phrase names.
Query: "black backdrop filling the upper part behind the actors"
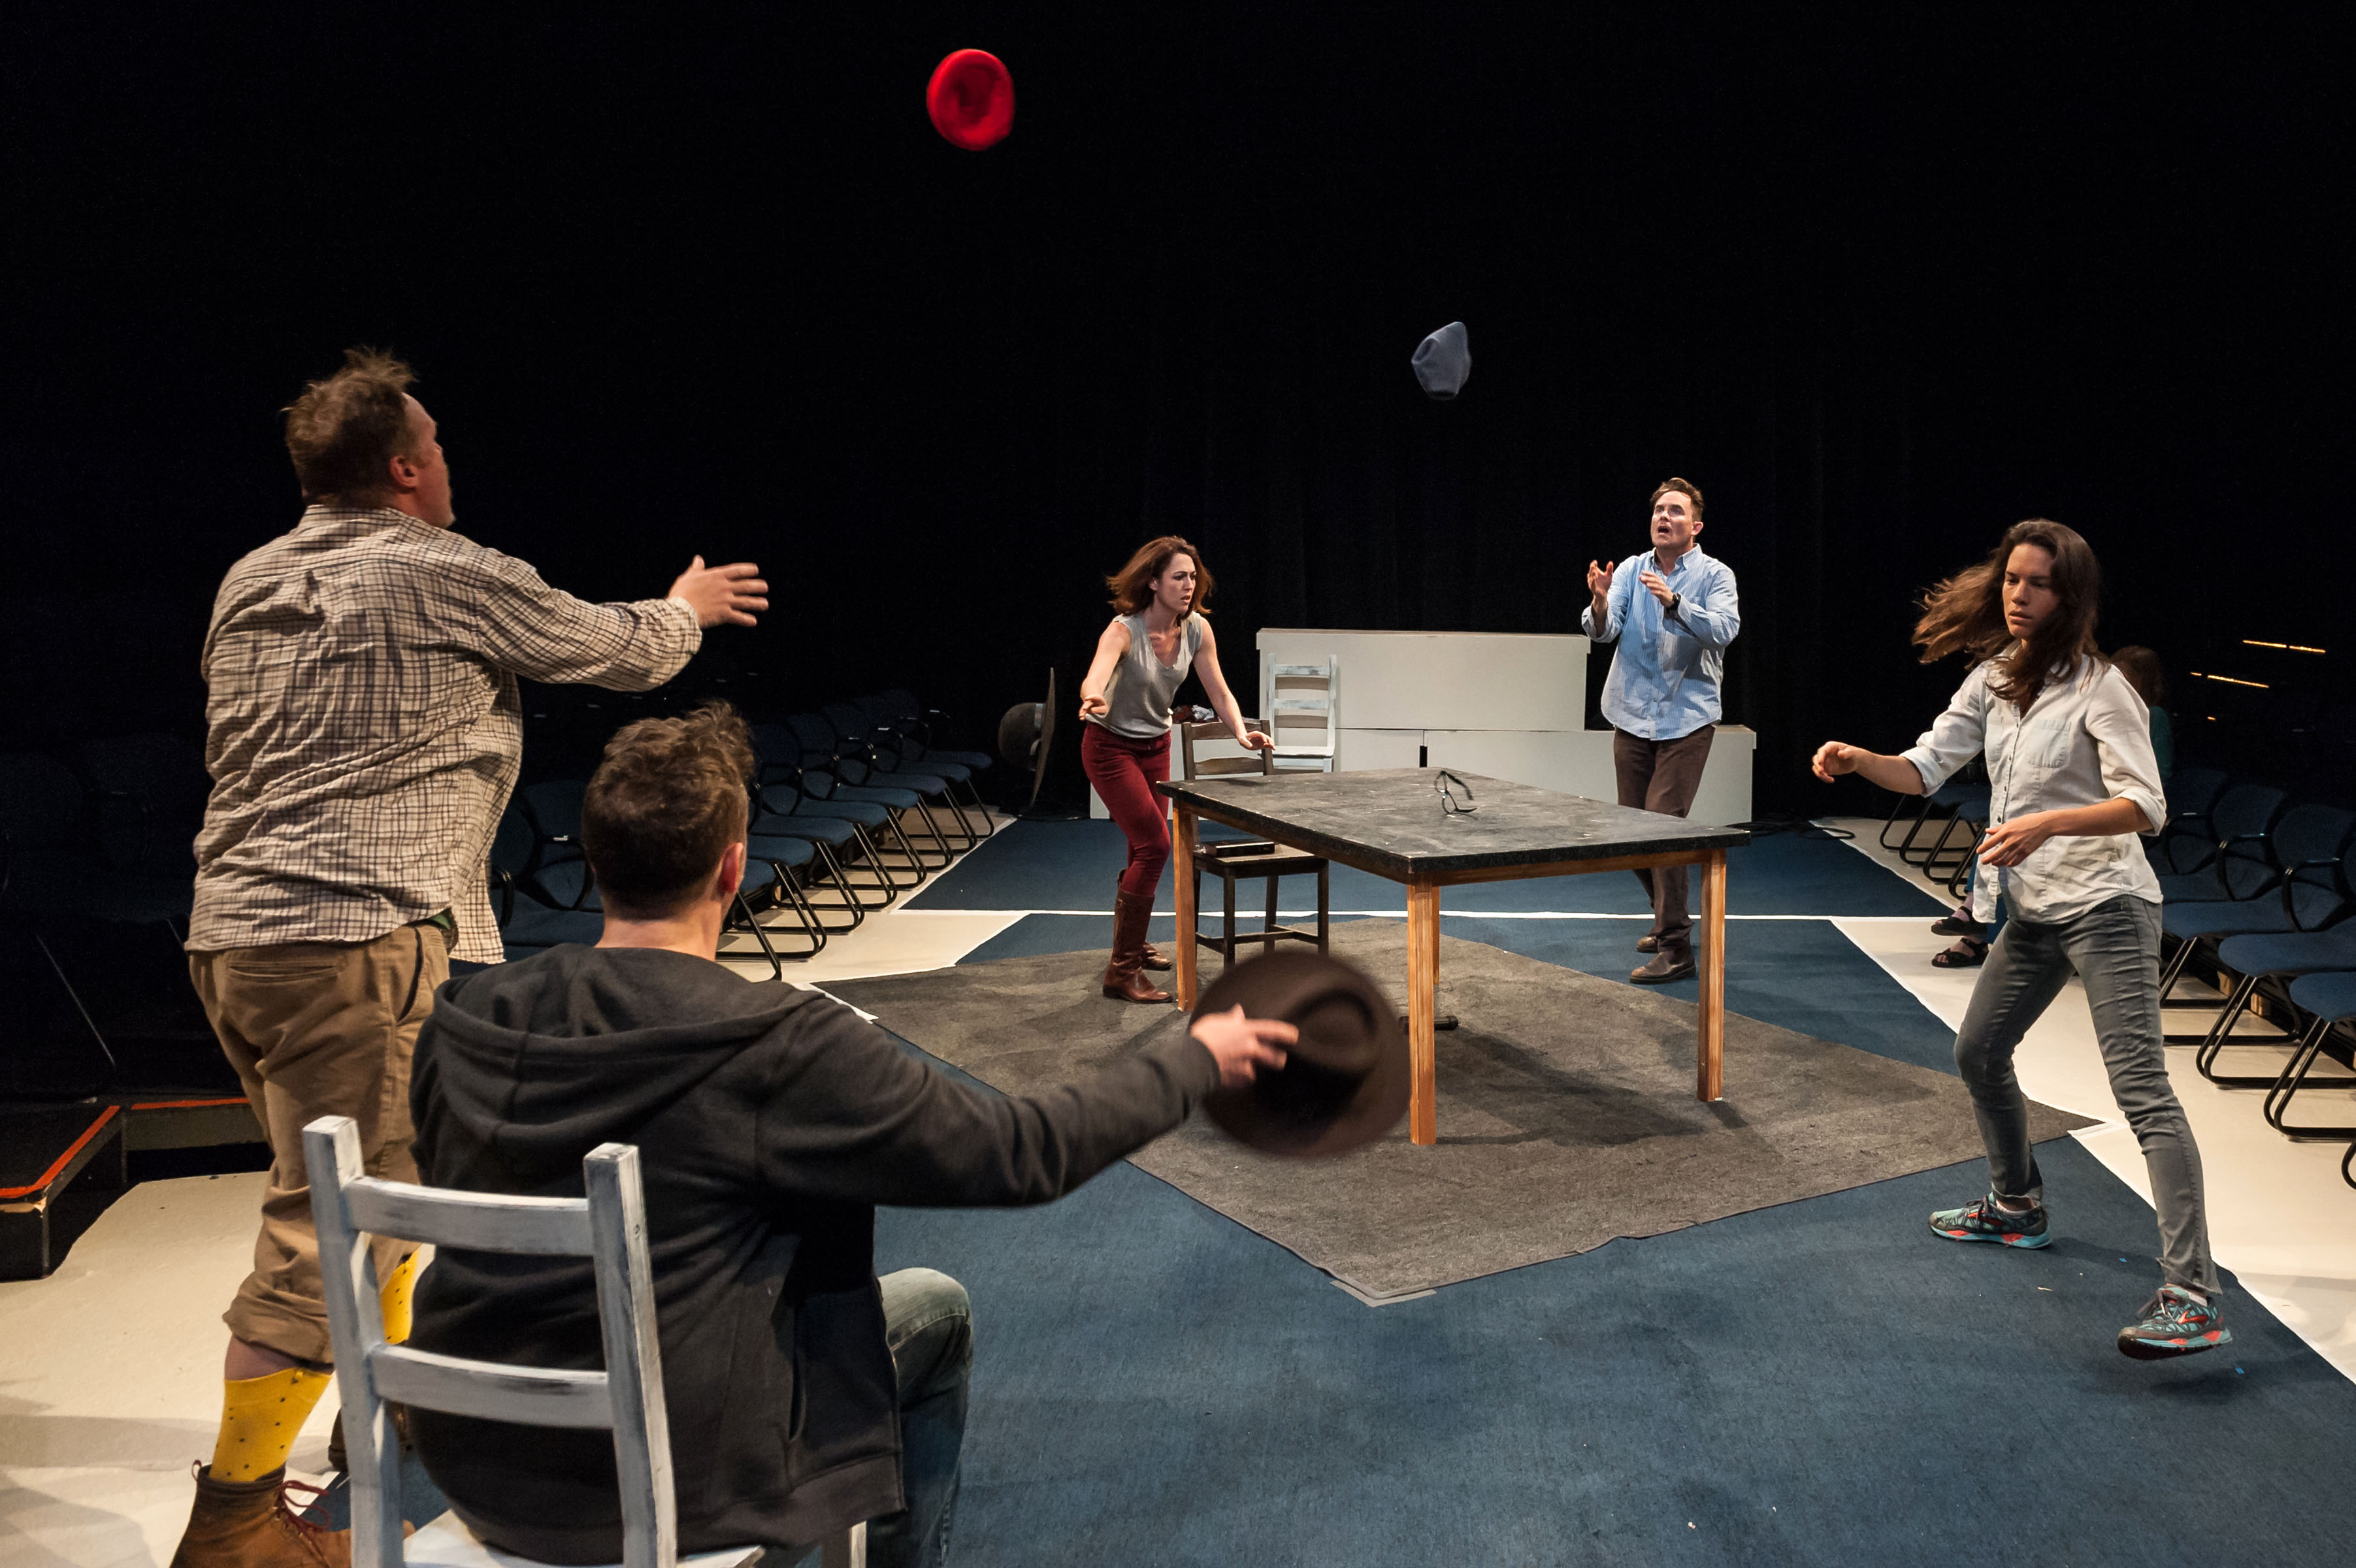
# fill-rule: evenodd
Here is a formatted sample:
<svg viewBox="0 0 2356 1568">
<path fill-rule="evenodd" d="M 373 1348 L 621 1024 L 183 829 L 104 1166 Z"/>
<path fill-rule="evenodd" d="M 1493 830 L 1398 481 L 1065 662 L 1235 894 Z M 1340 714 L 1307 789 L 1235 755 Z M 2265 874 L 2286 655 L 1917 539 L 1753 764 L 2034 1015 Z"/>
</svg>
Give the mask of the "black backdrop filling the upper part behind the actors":
<svg viewBox="0 0 2356 1568">
<path fill-rule="evenodd" d="M 200 723 L 212 586 L 294 518 L 276 410 L 353 341 L 422 370 L 459 527 L 551 582 L 756 558 L 777 607 L 700 666 L 759 671 L 752 706 L 905 683 L 980 737 L 1164 530 L 1239 680 L 1258 626 L 1574 631 L 1668 473 L 1741 577 L 1760 810 L 1868 805 L 1807 749 L 1911 739 L 1958 676 L 1908 662 L 1911 598 L 2021 516 L 2094 542 L 2104 638 L 2163 652 L 2196 751 L 2271 746 L 2344 669 L 2349 125 L 2281 19 L 9 28 L 9 744 Z M 980 155 L 921 108 L 968 45 L 1018 92 Z M 1435 405 L 1407 360 L 1458 318 Z"/>
</svg>

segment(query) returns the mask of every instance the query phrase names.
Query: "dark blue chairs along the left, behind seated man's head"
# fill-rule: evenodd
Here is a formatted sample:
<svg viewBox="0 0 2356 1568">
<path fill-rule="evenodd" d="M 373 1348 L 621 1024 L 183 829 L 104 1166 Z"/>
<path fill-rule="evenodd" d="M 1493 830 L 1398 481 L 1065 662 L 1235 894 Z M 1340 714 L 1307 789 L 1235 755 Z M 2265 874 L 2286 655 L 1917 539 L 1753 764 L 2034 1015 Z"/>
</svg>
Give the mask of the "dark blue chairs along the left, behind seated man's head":
<svg viewBox="0 0 2356 1568">
<path fill-rule="evenodd" d="M 909 692 L 879 692 L 752 727 L 744 890 L 728 930 L 754 939 L 770 975 L 994 831 L 975 789 L 990 756 L 942 746 L 940 720 Z M 598 937 L 580 848 L 584 789 L 530 784 L 499 822 L 492 897 L 509 956 Z"/>
</svg>

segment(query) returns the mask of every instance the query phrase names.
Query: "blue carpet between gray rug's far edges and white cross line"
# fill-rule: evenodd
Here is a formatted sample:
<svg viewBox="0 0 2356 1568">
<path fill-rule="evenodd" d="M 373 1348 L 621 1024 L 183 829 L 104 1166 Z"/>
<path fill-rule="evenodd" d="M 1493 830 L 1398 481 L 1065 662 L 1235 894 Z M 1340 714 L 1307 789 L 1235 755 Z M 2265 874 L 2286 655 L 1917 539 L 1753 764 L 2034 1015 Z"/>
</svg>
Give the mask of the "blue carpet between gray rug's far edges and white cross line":
<svg viewBox="0 0 2356 1568">
<path fill-rule="evenodd" d="M 1854 857 L 1854 855 L 1852 855 Z M 1258 918 L 1244 923 L 1258 928 Z M 1635 939 L 1642 918 L 1626 921 L 1482 921 L 1442 916 L 1440 930 L 1465 942 L 1543 958 L 1588 975 L 1626 975 L 1644 961 Z M 1150 939 L 1171 951 L 1176 921 L 1152 923 Z M 1110 916 L 1025 916 L 961 963 L 1030 954 L 1077 954 L 1112 944 Z M 1206 972 L 1218 958 L 1204 954 Z M 1661 986 L 1666 996 L 1701 1001 L 1699 979 Z M 1449 972 L 1440 970 L 1440 1010 L 1447 1012 Z M 1840 1041 L 1932 1071 L 1955 1071 L 1955 1031 L 1941 1024 L 1882 965 L 1857 951 L 1831 921 L 1727 923 L 1727 1008 L 1783 1029 Z"/>
</svg>

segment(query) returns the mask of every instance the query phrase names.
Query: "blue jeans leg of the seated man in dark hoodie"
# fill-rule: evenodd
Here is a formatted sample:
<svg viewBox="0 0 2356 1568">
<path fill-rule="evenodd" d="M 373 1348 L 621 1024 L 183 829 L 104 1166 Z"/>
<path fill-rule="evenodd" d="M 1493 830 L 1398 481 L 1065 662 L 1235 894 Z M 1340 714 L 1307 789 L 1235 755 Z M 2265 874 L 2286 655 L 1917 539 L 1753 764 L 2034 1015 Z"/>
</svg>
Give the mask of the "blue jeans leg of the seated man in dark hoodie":
<svg viewBox="0 0 2356 1568">
<path fill-rule="evenodd" d="M 907 1509 L 867 1521 L 869 1568 L 942 1568 L 957 1516 L 957 1457 L 966 1441 L 973 1304 L 935 1269 L 884 1281 L 884 1337 L 900 1375 L 900 1490 Z"/>
</svg>

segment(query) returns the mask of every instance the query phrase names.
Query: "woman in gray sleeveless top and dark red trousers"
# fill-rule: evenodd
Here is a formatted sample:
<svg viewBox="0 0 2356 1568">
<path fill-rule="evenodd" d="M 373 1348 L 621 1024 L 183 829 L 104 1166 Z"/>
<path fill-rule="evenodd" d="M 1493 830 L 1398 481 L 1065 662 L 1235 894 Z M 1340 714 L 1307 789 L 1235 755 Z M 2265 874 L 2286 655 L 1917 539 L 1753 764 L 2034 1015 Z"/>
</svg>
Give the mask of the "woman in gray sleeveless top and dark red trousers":
<svg viewBox="0 0 2356 1568">
<path fill-rule="evenodd" d="M 1202 551 L 1164 534 L 1138 546 L 1105 586 L 1112 589 L 1119 614 L 1096 638 L 1096 659 L 1079 683 L 1079 716 L 1086 720 L 1079 730 L 1079 765 L 1129 836 L 1129 866 L 1112 899 L 1105 996 L 1162 1003 L 1171 994 L 1140 972 L 1171 965 L 1145 942 L 1154 888 L 1171 857 L 1169 819 L 1154 784 L 1171 777 L 1171 699 L 1187 671 L 1202 671 L 1202 690 L 1237 742 L 1253 751 L 1275 742 L 1244 727 L 1235 692 L 1218 673 L 1218 638 L 1204 619 L 1211 572 L 1202 565 Z M 1185 876 L 1187 869 L 1180 866 L 1178 873 Z"/>
</svg>

